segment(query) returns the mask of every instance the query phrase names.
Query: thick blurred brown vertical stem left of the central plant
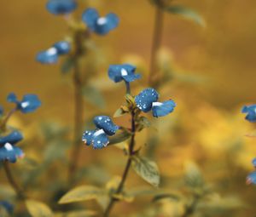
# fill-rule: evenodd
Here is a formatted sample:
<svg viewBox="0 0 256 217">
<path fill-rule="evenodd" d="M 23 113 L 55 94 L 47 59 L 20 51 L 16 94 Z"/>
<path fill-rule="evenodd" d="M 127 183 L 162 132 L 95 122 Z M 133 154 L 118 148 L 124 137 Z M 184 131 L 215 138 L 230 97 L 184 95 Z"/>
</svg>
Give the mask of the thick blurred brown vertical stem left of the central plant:
<svg viewBox="0 0 256 217">
<path fill-rule="evenodd" d="M 80 137 L 83 130 L 83 94 L 82 81 L 79 69 L 78 58 L 74 62 L 73 71 L 73 86 L 74 86 L 74 131 L 73 131 L 73 151 L 69 164 L 68 180 L 73 181 L 73 174 L 75 174 L 79 163 L 80 152 Z"/>
</svg>

